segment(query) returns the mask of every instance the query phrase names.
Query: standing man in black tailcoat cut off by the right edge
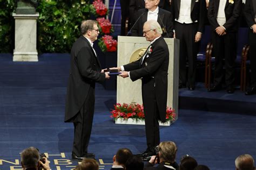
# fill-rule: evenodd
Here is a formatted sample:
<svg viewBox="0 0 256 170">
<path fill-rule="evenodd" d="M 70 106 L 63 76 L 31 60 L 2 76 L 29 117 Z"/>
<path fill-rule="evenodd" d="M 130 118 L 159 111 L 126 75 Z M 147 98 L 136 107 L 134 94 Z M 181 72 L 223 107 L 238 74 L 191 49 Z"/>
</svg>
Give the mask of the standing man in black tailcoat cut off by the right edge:
<svg viewBox="0 0 256 170">
<path fill-rule="evenodd" d="M 249 54 L 251 60 L 251 88 L 245 95 L 256 94 L 256 1 L 246 0 L 244 15 L 249 27 Z"/>
</svg>

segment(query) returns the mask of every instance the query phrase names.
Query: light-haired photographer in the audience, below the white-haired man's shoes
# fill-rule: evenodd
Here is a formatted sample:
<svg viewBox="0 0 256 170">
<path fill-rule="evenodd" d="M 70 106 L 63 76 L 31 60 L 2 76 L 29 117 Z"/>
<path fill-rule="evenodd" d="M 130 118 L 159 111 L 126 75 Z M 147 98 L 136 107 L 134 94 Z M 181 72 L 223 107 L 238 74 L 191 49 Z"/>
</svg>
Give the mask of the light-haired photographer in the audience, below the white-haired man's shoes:
<svg viewBox="0 0 256 170">
<path fill-rule="evenodd" d="M 145 169 L 179 169 L 175 161 L 177 147 L 173 141 L 163 141 L 156 147 L 157 155 L 151 157 L 150 161 L 145 164 Z M 154 164 L 159 164 L 154 166 Z"/>
</svg>

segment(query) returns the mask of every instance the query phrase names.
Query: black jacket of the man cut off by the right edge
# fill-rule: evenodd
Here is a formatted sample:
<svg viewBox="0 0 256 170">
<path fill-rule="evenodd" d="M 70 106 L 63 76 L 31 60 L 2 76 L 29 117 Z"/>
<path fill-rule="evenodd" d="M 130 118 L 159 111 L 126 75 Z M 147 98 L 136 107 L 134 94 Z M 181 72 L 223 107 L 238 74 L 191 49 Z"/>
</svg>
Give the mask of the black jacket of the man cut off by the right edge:
<svg viewBox="0 0 256 170">
<path fill-rule="evenodd" d="M 255 0 L 246 0 L 245 2 L 245 19 L 248 27 L 251 27 L 255 23 L 255 13 L 256 13 L 256 1 Z"/>
</svg>

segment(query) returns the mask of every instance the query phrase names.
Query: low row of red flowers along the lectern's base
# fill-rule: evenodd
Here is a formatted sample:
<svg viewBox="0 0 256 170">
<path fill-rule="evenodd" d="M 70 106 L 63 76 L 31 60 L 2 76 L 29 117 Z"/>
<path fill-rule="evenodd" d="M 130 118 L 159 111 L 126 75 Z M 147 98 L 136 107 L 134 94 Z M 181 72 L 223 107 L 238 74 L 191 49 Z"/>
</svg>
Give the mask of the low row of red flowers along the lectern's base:
<svg viewBox="0 0 256 170">
<path fill-rule="evenodd" d="M 116 120 L 117 118 L 135 118 L 145 119 L 143 105 L 140 104 L 120 104 L 114 105 L 114 109 L 111 111 L 111 118 Z M 171 108 L 166 108 L 166 121 L 175 121 L 176 114 Z"/>
</svg>

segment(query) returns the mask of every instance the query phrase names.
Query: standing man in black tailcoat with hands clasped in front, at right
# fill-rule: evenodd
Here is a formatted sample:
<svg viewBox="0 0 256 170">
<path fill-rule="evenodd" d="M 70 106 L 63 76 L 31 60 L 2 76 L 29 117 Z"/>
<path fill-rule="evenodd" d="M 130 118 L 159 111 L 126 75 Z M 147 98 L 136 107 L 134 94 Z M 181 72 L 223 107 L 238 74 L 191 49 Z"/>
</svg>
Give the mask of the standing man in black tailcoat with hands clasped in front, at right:
<svg viewBox="0 0 256 170">
<path fill-rule="evenodd" d="M 225 74 L 227 93 L 234 93 L 234 67 L 235 58 L 237 58 L 237 32 L 241 6 L 241 0 L 210 0 L 208 20 L 212 26 L 215 73 L 213 87 L 209 88 L 208 91 L 220 90 Z M 225 71 L 223 71 L 223 59 L 225 59 Z"/>
</svg>

